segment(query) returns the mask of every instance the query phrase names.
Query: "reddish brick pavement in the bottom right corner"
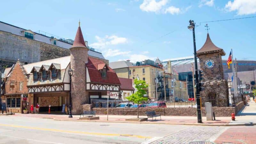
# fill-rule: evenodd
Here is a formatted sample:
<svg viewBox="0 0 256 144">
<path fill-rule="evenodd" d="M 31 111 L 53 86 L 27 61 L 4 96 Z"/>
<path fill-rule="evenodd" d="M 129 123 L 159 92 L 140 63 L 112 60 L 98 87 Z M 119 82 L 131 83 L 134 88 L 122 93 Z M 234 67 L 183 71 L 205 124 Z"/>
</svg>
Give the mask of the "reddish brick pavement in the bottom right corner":
<svg viewBox="0 0 256 144">
<path fill-rule="evenodd" d="M 231 127 L 223 132 L 215 143 L 256 144 L 256 126 Z"/>
</svg>

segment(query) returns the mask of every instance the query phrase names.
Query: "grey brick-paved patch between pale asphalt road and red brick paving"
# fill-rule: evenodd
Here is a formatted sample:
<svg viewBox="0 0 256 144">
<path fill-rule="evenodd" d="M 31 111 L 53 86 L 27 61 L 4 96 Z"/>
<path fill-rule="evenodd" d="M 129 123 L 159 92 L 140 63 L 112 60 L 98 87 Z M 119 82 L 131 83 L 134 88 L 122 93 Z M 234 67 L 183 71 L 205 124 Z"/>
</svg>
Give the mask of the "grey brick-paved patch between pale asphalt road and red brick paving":
<svg viewBox="0 0 256 144">
<path fill-rule="evenodd" d="M 188 144 L 192 141 L 210 141 L 213 142 L 226 127 L 193 126 L 167 135 L 151 144 Z"/>
</svg>

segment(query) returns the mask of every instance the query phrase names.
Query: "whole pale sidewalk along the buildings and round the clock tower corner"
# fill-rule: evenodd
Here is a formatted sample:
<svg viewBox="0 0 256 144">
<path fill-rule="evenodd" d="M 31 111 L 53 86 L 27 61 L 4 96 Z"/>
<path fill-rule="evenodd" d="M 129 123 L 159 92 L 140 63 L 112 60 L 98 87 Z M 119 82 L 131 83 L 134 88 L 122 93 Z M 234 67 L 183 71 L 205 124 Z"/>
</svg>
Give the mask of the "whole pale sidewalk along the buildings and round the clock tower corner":
<svg viewBox="0 0 256 144">
<path fill-rule="evenodd" d="M 152 122 L 151 118 L 144 122 L 128 122 L 127 118 L 136 118 L 137 116 L 123 116 L 123 115 L 97 115 L 99 120 L 79 120 L 79 115 L 73 115 L 73 118 L 68 118 L 68 115 L 58 114 L 15 114 L 12 117 L 31 117 L 31 118 L 50 118 L 60 121 L 94 121 L 94 122 L 112 122 L 112 123 L 140 123 L 140 124 L 184 124 L 184 125 L 212 125 L 212 126 L 240 126 L 240 125 L 256 125 L 256 103 L 251 101 L 247 106 L 244 106 L 236 116 L 236 121 L 232 121 L 231 117 L 216 117 L 216 121 L 206 121 L 203 116 L 203 123 L 197 123 L 196 116 L 161 116 L 157 117 Z M 147 116 L 140 116 L 147 117 Z"/>
</svg>

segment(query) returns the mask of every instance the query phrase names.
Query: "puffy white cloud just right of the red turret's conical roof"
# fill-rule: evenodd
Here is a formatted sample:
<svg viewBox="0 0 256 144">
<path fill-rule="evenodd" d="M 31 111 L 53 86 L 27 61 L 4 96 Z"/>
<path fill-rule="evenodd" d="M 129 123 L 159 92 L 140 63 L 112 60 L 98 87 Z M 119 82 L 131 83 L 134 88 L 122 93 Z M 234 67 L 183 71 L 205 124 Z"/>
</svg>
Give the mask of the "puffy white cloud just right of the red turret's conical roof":
<svg viewBox="0 0 256 144">
<path fill-rule="evenodd" d="M 95 36 L 97 42 L 92 43 L 89 46 L 93 48 L 105 48 L 108 45 L 117 45 L 117 44 L 125 44 L 128 42 L 128 39 L 125 37 L 118 37 L 115 35 L 105 37 Z"/>
</svg>

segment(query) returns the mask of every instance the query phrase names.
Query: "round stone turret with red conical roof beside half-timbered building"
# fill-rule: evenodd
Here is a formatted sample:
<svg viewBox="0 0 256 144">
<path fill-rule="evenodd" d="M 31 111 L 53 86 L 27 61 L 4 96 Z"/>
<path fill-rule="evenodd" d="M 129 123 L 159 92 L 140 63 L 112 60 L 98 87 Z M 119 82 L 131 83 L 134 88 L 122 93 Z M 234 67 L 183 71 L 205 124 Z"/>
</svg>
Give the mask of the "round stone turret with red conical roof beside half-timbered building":
<svg viewBox="0 0 256 144">
<path fill-rule="evenodd" d="M 89 102 L 89 92 L 86 92 L 86 63 L 88 51 L 84 43 L 84 37 L 80 25 L 76 32 L 76 38 L 70 50 L 70 68 L 73 70 L 71 78 L 72 113 L 82 112 L 82 105 Z"/>
</svg>

